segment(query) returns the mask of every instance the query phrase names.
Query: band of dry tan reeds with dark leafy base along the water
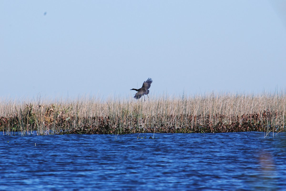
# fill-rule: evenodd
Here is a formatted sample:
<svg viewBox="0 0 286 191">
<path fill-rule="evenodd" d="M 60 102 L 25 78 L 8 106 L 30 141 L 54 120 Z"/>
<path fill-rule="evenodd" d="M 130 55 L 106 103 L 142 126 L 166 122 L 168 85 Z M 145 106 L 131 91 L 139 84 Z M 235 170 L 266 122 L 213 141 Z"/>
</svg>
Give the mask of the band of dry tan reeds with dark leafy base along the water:
<svg viewBox="0 0 286 191">
<path fill-rule="evenodd" d="M 3 134 L 127 134 L 285 130 L 286 94 L 0 100 Z"/>
</svg>

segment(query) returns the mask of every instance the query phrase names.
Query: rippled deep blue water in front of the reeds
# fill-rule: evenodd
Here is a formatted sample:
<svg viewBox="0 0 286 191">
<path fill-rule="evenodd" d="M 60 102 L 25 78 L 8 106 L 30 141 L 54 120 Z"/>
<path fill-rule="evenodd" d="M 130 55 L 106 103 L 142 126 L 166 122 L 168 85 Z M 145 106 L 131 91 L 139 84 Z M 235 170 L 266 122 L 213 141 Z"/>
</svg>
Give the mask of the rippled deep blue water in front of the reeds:
<svg viewBox="0 0 286 191">
<path fill-rule="evenodd" d="M 1 135 L 0 190 L 286 190 L 285 133 L 137 136 Z"/>
</svg>

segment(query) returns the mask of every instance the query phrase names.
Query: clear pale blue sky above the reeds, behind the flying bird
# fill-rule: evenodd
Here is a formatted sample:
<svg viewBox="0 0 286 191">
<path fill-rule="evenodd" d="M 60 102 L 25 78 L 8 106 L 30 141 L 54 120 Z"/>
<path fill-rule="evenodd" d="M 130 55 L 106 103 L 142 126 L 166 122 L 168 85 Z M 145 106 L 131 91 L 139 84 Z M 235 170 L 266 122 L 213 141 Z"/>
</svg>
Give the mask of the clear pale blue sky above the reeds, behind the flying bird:
<svg viewBox="0 0 286 191">
<path fill-rule="evenodd" d="M 0 97 L 285 89 L 285 5 L 0 0 Z"/>
</svg>

